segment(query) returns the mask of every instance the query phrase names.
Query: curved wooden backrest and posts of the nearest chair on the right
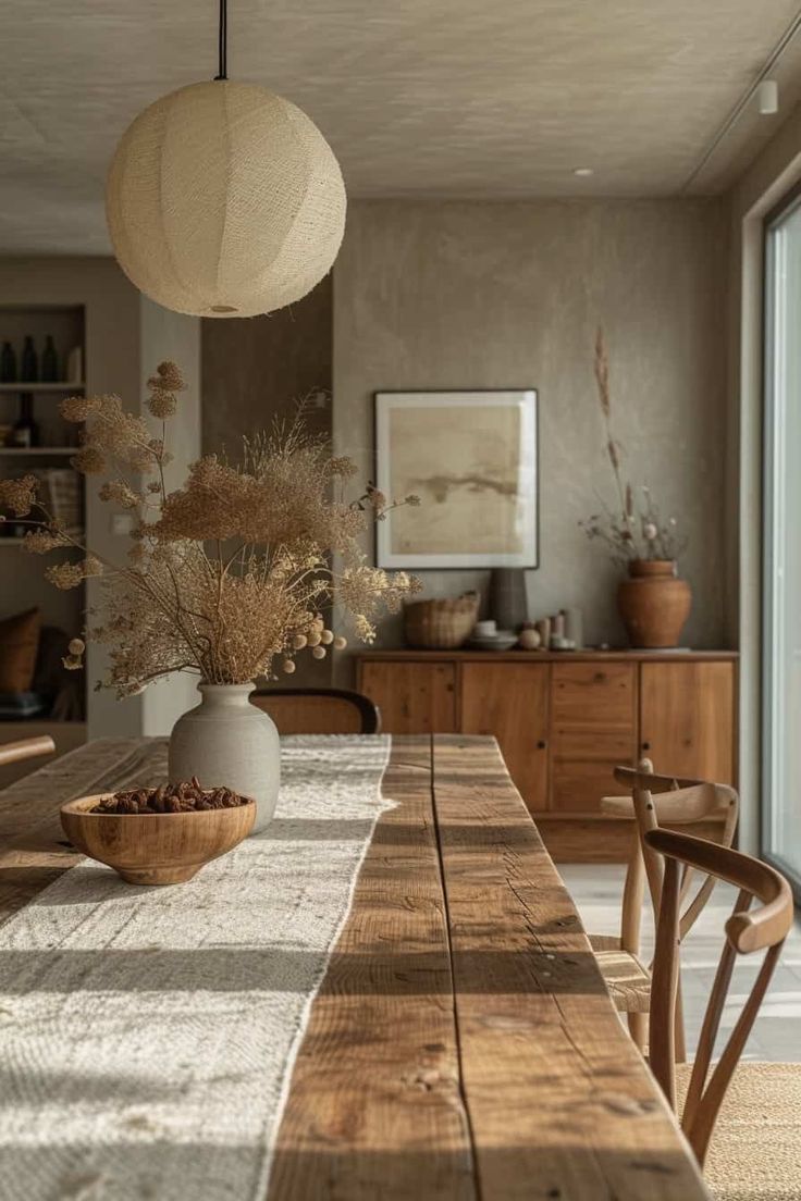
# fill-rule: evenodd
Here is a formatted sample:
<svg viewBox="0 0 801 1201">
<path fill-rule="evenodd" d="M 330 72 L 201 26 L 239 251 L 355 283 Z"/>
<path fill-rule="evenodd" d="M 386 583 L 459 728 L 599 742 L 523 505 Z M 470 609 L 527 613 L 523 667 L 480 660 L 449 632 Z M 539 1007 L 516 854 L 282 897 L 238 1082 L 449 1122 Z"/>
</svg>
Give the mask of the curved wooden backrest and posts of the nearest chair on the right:
<svg viewBox="0 0 801 1201">
<path fill-rule="evenodd" d="M 662 901 L 657 921 L 657 944 L 651 984 L 651 1020 L 648 1054 L 651 1070 L 671 1106 L 676 1107 L 674 1038 L 679 948 L 681 944 L 682 874 L 687 870 L 704 872 L 716 880 L 727 880 L 740 891 L 731 916 L 725 924 L 725 942 L 712 992 L 704 1016 L 685 1110 L 682 1130 L 698 1161 L 704 1164 L 710 1136 L 737 1065 L 748 1034 L 778 961 L 782 944 L 793 925 L 793 894 L 777 871 L 759 859 L 730 847 L 719 847 L 705 838 L 652 830 L 645 835 L 650 850 L 664 862 Z M 759 907 L 751 909 L 757 900 Z M 764 950 L 765 957 L 740 1017 L 723 1053 L 710 1075 L 715 1041 L 737 955 Z M 707 1078 L 709 1077 L 709 1078 Z"/>
</svg>

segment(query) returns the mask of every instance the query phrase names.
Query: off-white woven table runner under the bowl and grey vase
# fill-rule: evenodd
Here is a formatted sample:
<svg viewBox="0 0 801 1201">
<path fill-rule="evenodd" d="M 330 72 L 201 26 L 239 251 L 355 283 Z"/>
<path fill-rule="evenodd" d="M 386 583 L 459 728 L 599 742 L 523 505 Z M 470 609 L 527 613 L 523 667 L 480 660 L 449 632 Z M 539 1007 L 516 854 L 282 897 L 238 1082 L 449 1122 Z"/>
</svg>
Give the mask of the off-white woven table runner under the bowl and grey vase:
<svg viewBox="0 0 801 1201">
<path fill-rule="evenodd" d="M 389 739 L 283 743 L 273 825 L 189 884 L 89 860 L 0 930 L 2 1201 L 250 1201 Z"/>
</svg>

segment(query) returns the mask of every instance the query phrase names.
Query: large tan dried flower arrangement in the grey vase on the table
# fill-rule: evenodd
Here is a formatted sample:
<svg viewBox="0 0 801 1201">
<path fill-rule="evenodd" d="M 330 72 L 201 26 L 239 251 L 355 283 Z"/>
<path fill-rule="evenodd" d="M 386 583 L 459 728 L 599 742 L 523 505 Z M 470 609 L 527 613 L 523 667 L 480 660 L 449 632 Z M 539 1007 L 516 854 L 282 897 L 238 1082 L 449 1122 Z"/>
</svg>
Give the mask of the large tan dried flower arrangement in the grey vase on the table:
<svg viewBox="0 0 801 1201">
<path fill-rule="evenodd" d="M 367 514 L 383 520 L 417 497 L 388 502 L 369 485 L 348 503 L 345 482 L 355 468 L 306 434 L 301 410 L 269 435 L 245 438 L 240 464 L 205 455 L 191 465 L 183 488 L 168 491 L 166 428 L 185 386 L 175 364 L 162 363 L 148 387 L 161 437 L 125 412 L 119 396 L 61 404 L 65 419 L 83 426 L 73 466 L 110 477 L 101 500 L 132 515 L 124 564 L 65 531 L 41 504 L 35 476 L 0 480 L 0 508 L 30 526 L 24 550 L 79 552 L 47 568 L 56 587 L 102 576 L 101 619 L 86 637 L 108 647 L 103 683 L 125 697 L 173 671 L 196 671 L 205 683 L 247 683 L 273 676 L 280 661 L 291 674 L 299 651 L 324 658 L 327 649 L 346 645 L 323 622 L 321 610 L 333 602 L 371 641 L 377 614 L 399 609 L 419 585 L 405 572 L 367 566 L 358 538 Z M 342 564 L 336 572 L 333 557 Z M 84 650 L 83 639 L 73 639 L 65 665 L 82 667 Z"/>
</svg>

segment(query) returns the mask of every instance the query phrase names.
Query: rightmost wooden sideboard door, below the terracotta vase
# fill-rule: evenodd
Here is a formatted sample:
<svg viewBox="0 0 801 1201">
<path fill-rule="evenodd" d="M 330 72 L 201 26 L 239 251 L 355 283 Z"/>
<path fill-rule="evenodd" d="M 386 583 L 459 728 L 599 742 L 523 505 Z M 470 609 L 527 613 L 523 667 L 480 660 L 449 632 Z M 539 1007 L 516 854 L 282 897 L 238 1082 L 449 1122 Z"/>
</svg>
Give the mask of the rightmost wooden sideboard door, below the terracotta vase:
<svg viewBox="0 0 801 1201">
<path fill-rule="evenodd" d="M 642 663 L 640 754 L 665 775 L 734 783 L 734 663 Z"/>
</svg>

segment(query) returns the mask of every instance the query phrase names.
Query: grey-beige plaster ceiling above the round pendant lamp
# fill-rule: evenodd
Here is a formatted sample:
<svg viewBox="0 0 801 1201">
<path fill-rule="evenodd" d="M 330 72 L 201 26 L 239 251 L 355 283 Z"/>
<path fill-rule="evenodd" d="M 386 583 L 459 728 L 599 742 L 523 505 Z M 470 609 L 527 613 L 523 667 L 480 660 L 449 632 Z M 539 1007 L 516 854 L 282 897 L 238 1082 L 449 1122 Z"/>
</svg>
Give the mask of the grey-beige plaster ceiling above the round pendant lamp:
<svg viewBox="0 0 801 1201">
<path fill-rule="evenodd" d="M 749 106 L 706 161 L 796 10 L 229 0 L 228 72 L 305 108 L 353 197 L 704 195 L 801 98 L 799 37 L 771 72 L 782 114 Z M 115 141 L 157 96 L 214 76 L 216 0 L 4 0 L 0 47 L 0 251 L 106 252 Z"/>
</svg>

